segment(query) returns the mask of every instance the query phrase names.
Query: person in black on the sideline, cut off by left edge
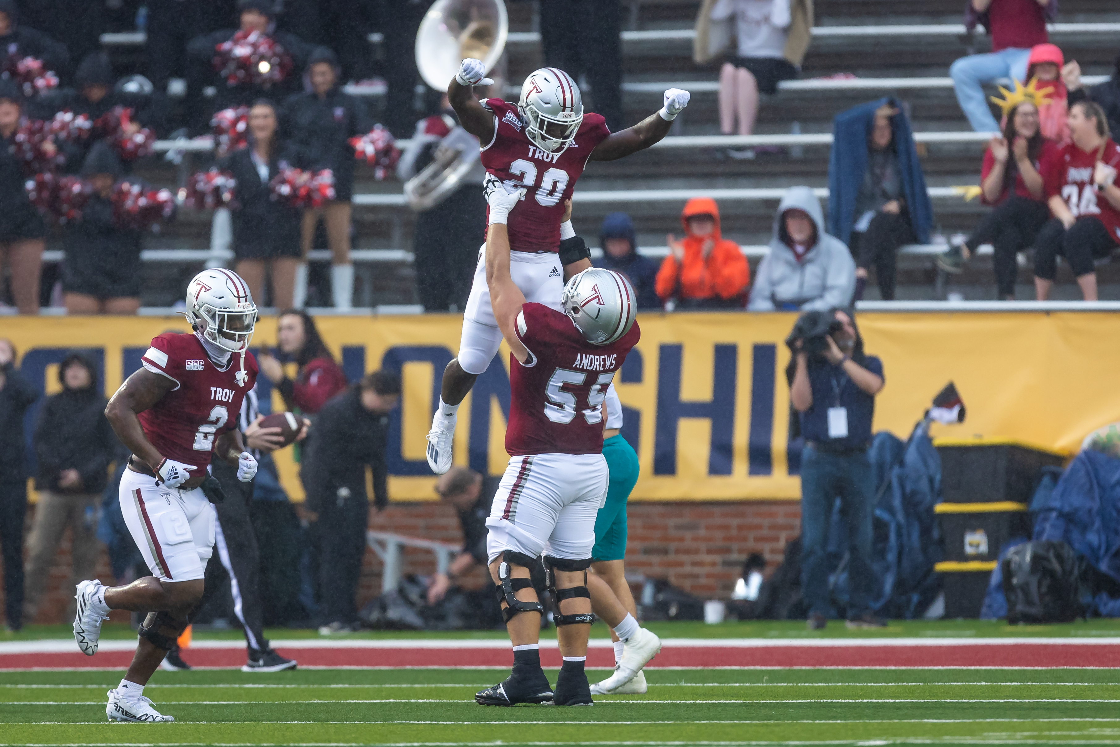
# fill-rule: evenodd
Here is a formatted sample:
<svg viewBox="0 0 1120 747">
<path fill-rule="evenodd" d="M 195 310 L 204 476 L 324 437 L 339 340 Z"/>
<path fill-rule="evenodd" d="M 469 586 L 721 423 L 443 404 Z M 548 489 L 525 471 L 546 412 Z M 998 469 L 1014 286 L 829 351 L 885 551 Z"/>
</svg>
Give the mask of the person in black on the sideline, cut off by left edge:
<svg viewBox="0 0 1120 747">
<path fill-rule="evenodd" d="M 8 631 L 24 625 L 24 516 L 27 473 L 24 467 L 24 413 L 39 398 L 16 367 L 16 346 L 0 338 L 0 550 L 3 553 L 3 603 Z"/>
</svg>

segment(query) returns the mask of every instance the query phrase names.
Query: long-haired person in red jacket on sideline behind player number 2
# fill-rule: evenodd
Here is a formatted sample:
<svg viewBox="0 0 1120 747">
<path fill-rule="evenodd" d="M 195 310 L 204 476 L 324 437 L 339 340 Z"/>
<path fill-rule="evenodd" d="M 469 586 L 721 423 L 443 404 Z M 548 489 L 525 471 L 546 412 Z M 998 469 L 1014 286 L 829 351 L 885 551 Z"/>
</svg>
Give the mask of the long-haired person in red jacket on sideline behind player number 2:
<svg viewBox="0 0 1120 747">
<path fill-rule="evenodd" d="M 299 366 L 296 379 L 289 379 L 280 361 L 267 351 L 261 351 L 259 361 L 261 373 L 280 390 L 288 409 L 315 414 L 327 400 L 346 389 L 346 374 L 335 363 L 307 312 L 289 309 L 280 315 L 277 347 L 296 360 Z"/>
</svg>

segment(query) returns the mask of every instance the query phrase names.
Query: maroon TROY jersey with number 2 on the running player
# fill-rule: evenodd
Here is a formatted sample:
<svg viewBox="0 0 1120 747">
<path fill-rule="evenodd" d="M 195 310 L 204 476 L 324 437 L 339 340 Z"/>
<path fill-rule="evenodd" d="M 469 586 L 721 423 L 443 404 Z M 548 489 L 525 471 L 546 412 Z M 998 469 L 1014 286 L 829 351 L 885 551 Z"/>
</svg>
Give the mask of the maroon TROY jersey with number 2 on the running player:
<svg viewBox="0 0 1120 747">
<path fill-rule="evenodd" d="M 256 383 L 256 358 L 252 353 L 245 355 L 249 380 L 244 386 L 236 381 L 240 353 L 231 355 L 230 365 L 220 370 L 189 333 L 164 333 L 152 338 L 141 361 L 148 371 L 175 382 L 175 389 L 140 413 L 143 435 L 167 459 L 206 469 L 214 441 L 237 427 L 241 401 Z"/>
</svg>

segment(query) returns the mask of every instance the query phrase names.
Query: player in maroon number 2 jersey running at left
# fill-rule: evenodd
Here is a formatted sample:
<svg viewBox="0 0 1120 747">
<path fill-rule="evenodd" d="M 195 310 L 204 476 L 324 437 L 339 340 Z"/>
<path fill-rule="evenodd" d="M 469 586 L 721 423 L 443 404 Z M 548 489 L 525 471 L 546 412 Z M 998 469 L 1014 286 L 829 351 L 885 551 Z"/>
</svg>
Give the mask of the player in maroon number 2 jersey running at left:
<svg viewBox="0 0 1120 747">
<path fill-rule="evenodd" d="M 132 665 L 109 691 L 110 720 L 175 720 L 152 708 L 143 688 L 203 596 L 214 548 L 211 503 L 224 497 L 206 468 L 216 456 L 235 464 L 242 482 L 256 474 L 237 430 L 241 402 L 256 381 L 256 361 L 248 349 L 256 306 L 245 281 L 222 269 L 195 276 L 186 300 L 193 334 L 153 338 L 143 367 L 105 408 L 132 452 L 121 477 L 121 511 L 151 570 L 128 586 L 77 585 L 74 638 L 88 656 L 97 653 L 101 622 L 111 609 L 147 613 Z"/>
</svg>

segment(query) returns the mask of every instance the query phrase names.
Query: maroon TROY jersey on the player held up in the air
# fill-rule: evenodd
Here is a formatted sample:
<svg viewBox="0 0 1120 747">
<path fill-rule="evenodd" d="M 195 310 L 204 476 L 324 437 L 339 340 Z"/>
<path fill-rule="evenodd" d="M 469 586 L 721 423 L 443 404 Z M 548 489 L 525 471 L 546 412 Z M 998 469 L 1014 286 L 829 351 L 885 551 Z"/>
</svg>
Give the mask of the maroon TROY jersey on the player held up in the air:
<svg viewBox="0 0 1120 747">
<path fill-rule="evenodd" d="M 557 251 L 563 200 L 571 199 L 591 151 L 610 134 L 606 120 L 598 114 L 584 114 L 576 139 L 561 152 L 550 153 L 529 140 L 516 104 L 487 99 L 483 106 L 494 112 L 494 137 L 483 146 L 483 166 L 507 188 L 525 187 L 525 196 L 506 223 L 510 249 Z M 488 207 L 486 212 L 489 215 Z"/>
</svg>

